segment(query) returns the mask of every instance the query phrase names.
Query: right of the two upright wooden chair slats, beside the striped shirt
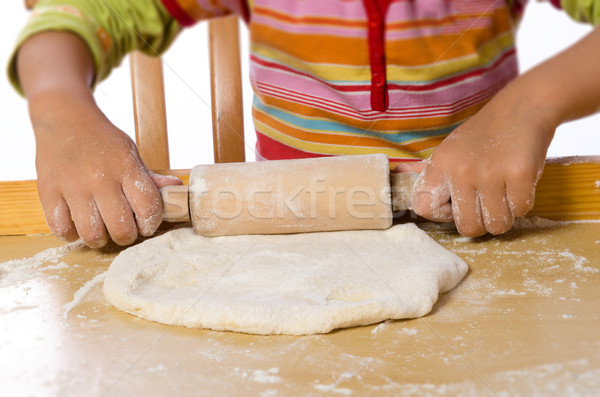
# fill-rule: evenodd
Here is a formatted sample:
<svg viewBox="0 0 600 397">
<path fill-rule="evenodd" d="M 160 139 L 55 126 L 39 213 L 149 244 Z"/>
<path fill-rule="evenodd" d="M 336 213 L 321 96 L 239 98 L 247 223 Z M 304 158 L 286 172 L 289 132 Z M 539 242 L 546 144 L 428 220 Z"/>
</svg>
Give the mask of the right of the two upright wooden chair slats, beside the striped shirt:
<svg viewBox="0 0 600 397">
<path fill-rule="evenodd" d="M 208 23 L 215 163 L 245 161 L 238 20 Z"/>
</svg>

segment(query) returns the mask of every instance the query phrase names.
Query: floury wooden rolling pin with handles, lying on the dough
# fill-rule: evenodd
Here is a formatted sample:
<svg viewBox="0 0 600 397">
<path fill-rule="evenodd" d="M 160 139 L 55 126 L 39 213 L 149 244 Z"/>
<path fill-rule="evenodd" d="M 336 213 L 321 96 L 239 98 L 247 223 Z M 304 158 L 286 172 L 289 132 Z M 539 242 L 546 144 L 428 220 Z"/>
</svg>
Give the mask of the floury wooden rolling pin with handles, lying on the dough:
<svg viewBox="0 0 600 397">
<path fill-rule="evenodd" d="M 200 165 L 189 189 L 161 189 L 163 219 L 207 237 L 386 229 L 416 175 L 390 175 L 384 154 Z"/>
</svg>

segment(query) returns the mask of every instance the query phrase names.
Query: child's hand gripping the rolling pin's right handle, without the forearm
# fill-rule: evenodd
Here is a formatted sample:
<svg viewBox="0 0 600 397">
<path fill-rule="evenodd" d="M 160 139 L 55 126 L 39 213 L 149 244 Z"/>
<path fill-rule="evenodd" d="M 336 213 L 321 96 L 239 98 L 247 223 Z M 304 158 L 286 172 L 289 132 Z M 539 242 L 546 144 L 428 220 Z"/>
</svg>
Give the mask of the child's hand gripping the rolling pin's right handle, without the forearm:
<svg viewBox="0 0 600 397">
<path fill-rule="evenodd" d="M 414 211 L 454 220 L 465 236 L 508 231 L 533 207 L 550 120 L 527 95 L 499 94 L 436 149 L 415 186 Z"/>
</svg>

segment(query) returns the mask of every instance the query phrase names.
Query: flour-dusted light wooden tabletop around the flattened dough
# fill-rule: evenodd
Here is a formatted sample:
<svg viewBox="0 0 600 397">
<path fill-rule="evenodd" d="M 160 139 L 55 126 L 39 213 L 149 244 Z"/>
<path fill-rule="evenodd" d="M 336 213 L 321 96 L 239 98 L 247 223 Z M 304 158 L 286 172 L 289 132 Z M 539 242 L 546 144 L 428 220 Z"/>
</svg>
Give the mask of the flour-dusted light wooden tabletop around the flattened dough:
<svg viewBox="0 0 600 397">
<path fill-rule="evenodd" d="M 598 395 L 600 223 L 542 226 L 424 224 L 470 266 L 432 313 L 299 337 L 139 319 L 102 295 L 120 248 L 0 237 L 0 395 Z"/>
</svg>

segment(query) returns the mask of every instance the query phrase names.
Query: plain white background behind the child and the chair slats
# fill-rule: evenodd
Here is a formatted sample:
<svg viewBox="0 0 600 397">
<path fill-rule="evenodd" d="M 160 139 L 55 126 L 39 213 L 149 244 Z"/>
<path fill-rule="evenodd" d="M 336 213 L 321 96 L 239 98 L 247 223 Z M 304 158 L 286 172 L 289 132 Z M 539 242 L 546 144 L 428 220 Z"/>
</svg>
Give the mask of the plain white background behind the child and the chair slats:
<svg viewBox="0 0 600 397">
<path fill-rule="evenodd" d="M 14 38 L 26 18 L 22 1 L 3 2 L 0 13 L 1 67 L 5 67 Z M 517 36 L 521 70 L 559 52 L 590 29 L 588 25 L 573 22 L 549 3 L 531 2 Z M 246 47 L 247 37 L 243 27 L 241 30 L 242 47 Z M 246 56 L 244 48 L 244 61 Z M 205 24 L 184 32 L 164 56 L 171 168 L 191 168 L 213 160 L 206 57 Z M 251 161 L 254 160 L 255 138 L 249 118 L 251 95 L 247 85 L 247 65 L 244 65 L 243 74 L 246 83 L 246 157 Z M 129 87 L 129 66 L 125 61 L 98 86 L 96 99 L 113 123 L 134 134 Z M 5 77 L 0 78 L 0 112 L 0 180 L 35 178 L 35 142 L 26 102 L 13 91 Z M 591 154 L 600 154 L 599 114 L 561 126 L 548 152 L 551 157 Z"/>
</svg>

